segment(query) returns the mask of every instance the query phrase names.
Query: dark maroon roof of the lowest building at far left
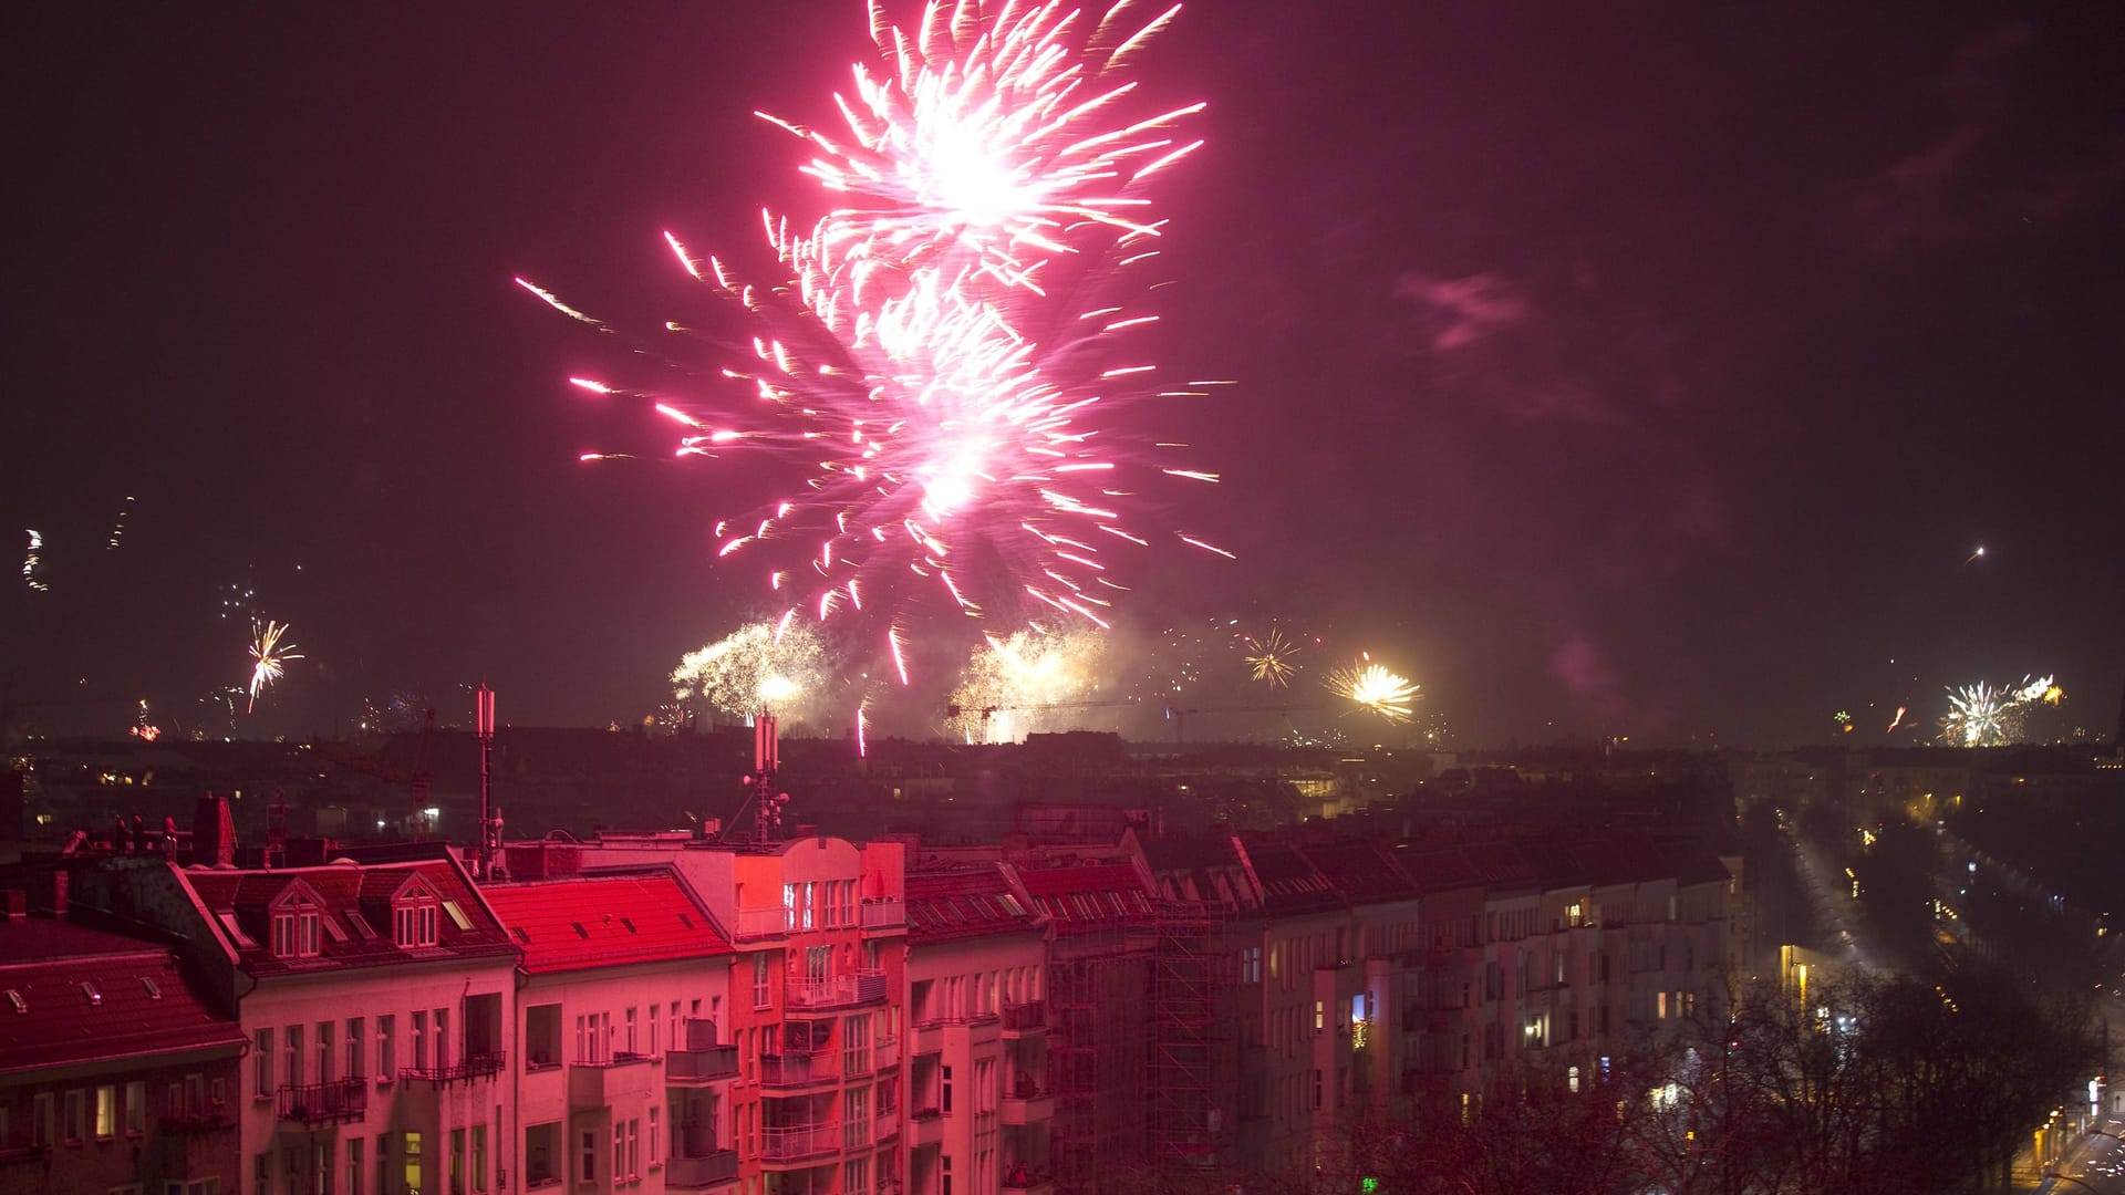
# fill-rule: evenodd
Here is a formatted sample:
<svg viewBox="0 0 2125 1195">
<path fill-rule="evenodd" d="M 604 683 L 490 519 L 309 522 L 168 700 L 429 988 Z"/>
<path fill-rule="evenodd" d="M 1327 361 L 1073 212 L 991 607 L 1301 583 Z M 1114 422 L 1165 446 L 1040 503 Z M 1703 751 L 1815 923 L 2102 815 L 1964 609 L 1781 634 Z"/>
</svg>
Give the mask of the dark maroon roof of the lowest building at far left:
<svg viewBox="0 0 2125 1195">
<path fill-rule="evenodd" d="M 17 916 L 0 923 L 0 959 L 19 959 L 0 961 L 0 1074 L 244 1044 L 166 946 Z"/>
</svg>

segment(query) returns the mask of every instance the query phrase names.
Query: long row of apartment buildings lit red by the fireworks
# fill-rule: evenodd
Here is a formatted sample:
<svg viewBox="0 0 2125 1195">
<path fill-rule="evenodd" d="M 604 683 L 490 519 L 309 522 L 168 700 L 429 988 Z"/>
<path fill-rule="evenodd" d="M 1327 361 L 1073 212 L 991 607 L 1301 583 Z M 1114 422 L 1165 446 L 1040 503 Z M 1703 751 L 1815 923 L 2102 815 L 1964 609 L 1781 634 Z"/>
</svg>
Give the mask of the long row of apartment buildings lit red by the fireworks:
<svg viewBox="0 0 2125 1195">
<path fill-rule="evenodd" d="M 1738 863 L 1645 838 L 232 838 L 0 876 L 0 1189 L 1245 1189 L 1592 1091 L 1742 940 Z"/>
</svg>

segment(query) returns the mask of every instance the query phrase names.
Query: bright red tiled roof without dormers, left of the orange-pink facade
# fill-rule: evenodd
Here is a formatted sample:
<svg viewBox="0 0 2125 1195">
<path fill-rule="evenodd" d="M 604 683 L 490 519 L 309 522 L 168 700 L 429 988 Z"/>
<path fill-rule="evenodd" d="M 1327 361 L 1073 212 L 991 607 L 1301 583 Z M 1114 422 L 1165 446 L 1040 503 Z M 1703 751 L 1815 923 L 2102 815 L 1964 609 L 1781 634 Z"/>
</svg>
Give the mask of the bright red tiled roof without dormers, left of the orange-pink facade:
<svg viewBox="0 0 2125 1195">
<path fill-rule="evenodd" d="M 669 868 L 480 891 L 533 976 L 731 953 L 708 908 Z"/>
</svg>

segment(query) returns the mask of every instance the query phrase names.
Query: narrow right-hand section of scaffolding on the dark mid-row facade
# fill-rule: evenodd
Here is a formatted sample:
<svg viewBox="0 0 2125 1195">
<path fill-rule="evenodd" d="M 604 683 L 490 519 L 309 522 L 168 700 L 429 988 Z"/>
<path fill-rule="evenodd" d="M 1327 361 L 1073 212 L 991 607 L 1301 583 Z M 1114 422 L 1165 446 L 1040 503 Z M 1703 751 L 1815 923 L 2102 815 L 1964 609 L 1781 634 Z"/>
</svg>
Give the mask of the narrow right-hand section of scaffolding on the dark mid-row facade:
<svg viewBox="0 0 2125 1195">
<path fill-rule="evenodd" d="M 1224 1050 L 1222 997 L 1232 989 L 1226 910 L 1160 902 L 1152 950 L 1150 1161 L 1160 1189 L 1230 1161 L 1235 1057 Z"/>
</svg>

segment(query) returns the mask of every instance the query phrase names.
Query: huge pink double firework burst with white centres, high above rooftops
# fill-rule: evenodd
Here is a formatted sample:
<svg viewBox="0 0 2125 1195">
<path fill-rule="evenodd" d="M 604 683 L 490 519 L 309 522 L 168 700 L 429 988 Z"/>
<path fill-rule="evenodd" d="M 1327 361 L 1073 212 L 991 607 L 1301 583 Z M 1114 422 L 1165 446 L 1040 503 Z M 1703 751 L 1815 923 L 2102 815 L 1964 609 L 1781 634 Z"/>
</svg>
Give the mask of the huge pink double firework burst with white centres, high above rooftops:
<svg viewBox="0 0 2125 1195">
<path fill-rule="evenodd" d="M 884 74 L 858 64 L 854 98 L 835 96 L 846 132 L 763 115 L 812 145 L 803 172 L 848 204 L 810 232 L 765 217 L 786 279 L 735 281 L 665 234 L 688 274 L 744 308 L 750 344 L 714 372 L 750 398 L 572 378 L 654 404 L 684 427 L 680 457 L 788 461 L 790 495 L 718 523 L 716 553 L 767 555 L 774 591 L 818 621 L 871 612 L 897 663 L 910 576 L 971 617 L 1105 627 L 1124 589 L 1105 551 L 1152 542 L 1124 517 L 1135 476 L 1218 481 L 1122 451 L 1130 427 L 1111 419 L 1130 400 L 1198 393 L 1160 391 L 1126 349 L 1158 319 L 1126 281 L 1164 228 L 1143 183 L 1201 145 L 1169 130 L 1203 108 L 1141 106 L 1126 60 L 1179 6 L 1143 23 L 1126 9 L 1090 21 L 1060 4 L 929 4 L 907 32 L 873 6 Z"/>
</svg>

